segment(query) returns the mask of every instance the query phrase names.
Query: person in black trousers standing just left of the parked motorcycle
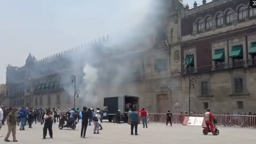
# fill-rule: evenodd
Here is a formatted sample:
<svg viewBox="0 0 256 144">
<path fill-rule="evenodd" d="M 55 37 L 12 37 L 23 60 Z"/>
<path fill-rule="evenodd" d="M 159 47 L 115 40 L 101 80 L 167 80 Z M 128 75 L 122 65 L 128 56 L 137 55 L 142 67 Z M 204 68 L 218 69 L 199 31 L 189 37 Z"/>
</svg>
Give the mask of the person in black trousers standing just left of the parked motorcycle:
<svg viewBox="0 0 256 144">
<path fill-rule="evenodd" d="M 49 131 L 50 138 L 53 138 L 53 115 L 51 115 L 51 110 L 47 110 L 44 115 L 44 129 L 43 129 L 43 139 L 46 138 L 47 129 Z"/>
</svg>

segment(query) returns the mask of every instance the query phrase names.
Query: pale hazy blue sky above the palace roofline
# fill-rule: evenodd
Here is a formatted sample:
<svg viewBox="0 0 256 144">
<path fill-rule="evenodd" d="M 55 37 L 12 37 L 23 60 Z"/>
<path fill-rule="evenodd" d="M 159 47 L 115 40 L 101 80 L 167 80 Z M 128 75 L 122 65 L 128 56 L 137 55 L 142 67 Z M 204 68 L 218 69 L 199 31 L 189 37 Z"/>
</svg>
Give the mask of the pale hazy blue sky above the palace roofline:
<svg viewBox="0 0 256 144">
<path fill-rule="evenodd" d="M 0 84 L 6 64 L 23 66 L 29 53 L 42 59 L 134 26 L 150 1 L 0 0 Z"/>
</svg>

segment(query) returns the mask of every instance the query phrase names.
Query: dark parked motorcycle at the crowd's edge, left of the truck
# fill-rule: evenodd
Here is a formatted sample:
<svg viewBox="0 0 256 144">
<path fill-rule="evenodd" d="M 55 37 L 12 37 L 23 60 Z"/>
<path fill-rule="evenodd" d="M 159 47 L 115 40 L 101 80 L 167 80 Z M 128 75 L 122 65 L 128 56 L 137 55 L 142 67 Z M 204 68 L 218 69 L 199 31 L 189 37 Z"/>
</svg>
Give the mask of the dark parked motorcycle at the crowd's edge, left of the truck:
<svg viewBox="0 0 256 144">
<path fill-rule="evenodd" d="M 65 123 L 67 122 L 67 123 Z M 78 122 L 76 121 L 75 118 L 72 118 L 71 120 L 68 120 L 68 116 L 63 116 L 62 118 L 60 118 L 59 120 L 59 129 L 62 130 L 64 127 L 70 128 L 72 130 L 76 129 L 76 124 Z"/>
</svg>

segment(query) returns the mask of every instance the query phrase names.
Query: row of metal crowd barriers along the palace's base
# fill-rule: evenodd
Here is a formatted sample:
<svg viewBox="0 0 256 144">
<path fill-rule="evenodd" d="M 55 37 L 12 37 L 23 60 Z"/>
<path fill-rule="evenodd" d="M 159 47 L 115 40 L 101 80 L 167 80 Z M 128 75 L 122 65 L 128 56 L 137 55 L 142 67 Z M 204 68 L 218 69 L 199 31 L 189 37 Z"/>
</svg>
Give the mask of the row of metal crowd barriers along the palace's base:
<svg viewBox="0 0 256 144">
<path fill-rule="evenodd" d="M 148 113 L 149 122 L 166 122 L 166 113 Z M 172 123 L 183 123 L 183 119 L 189 114 L 172 114 Z M 204 114 L 192 114 L 192 117 L 204 117 Z M 224 114 L 214 114 L 217 119 L 217 125 L 223 126 L 240 126 L 248 128 L 256 128 L 256 116 L 248 115 L 224 115 Z"/>
</svg>

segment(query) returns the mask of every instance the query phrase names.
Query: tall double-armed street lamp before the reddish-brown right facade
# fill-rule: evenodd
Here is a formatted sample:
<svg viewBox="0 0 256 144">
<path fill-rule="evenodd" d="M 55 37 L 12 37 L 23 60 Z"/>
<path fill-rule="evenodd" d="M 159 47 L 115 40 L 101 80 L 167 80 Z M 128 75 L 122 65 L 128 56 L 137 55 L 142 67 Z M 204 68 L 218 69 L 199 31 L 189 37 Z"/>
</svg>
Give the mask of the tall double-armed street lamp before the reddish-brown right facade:
<svg viewBox="0 0 256 144">
<path fill-rule="evenodd" d="M 190 95 L 190 91 L 191 91 L 191 87 L 195 87 L 195 85 L 197 84 L 197 80 L 196 78 L 190 78 L 190 71 L 191 71 L 191 67 L 190 67 L 190 53 L 185 54 L 184 55 L 184 60 L 185 60 L 185 64 L 188 64 L 188 77 L 189 77 L 189 115 L 191 115 L 191 106 L 190 106 L 190 101 L 191 101 L 191 95 Z"/>
</svg>

